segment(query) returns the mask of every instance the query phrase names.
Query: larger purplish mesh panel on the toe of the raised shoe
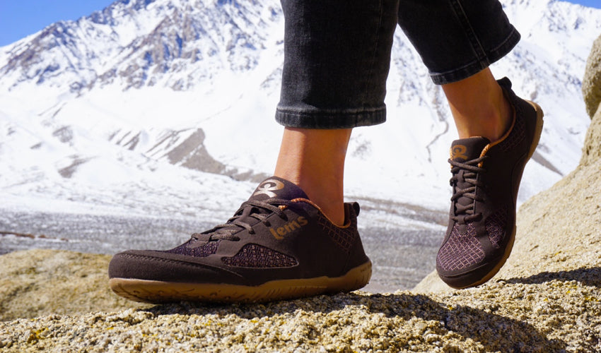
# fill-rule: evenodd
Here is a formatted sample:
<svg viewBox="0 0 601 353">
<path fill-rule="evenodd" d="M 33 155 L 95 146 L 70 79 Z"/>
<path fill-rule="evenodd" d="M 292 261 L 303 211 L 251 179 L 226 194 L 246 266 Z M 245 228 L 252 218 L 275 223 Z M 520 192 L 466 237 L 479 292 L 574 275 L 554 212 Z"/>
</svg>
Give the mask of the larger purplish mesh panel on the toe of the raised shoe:
<svg viewBox="0 0 601 353">
<path fill-rule="evenodd" d="M 476 238 L 473 223 L 467 224 L 467 232 L 462 235 L 455 224 L 448 241 L 440 248 L 436 261 L 445 271 L 461 270 L 484 260 L 484 249 Z"/>
</svg>

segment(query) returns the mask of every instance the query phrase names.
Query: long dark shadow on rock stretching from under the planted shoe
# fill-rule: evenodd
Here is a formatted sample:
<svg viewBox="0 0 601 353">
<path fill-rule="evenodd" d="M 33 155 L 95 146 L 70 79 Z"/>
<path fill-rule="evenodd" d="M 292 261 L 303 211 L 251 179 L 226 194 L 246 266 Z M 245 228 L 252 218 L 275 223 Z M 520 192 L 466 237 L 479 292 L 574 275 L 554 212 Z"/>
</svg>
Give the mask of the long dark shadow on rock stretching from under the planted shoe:
<svg viewBox="0 0 601 353">
<path fill-rule="evenodd" d="M 370 317 L 382 320 L 401 318 L 410 321 L 419 318 L 436 327 L 436 334 L 443 336 L 456 333 L 465 340 L 480 342 L 486 351 L 522 352 L 558 352 L 566 349 L 566 342 L 549 340 L 529 323 L 513 318 L 496 315 L 495 304 L 487 309 L 474 309 L 469 306 L 450 306 L 421 294 L 372 294 L 361 295 L 336 294 L 318 296 L 291 301 L 277 301 L 267 304 L 195 304 L 181 302 L 154 306 L 141 311 L 154 316 L 163 315 L 216 315 L 226 317 L 235 315 L 243 319 L 274 318 L 275 316 L 301 316 L 310 313 L 315 325 L 326 328 L 332 314 L 340 318 L 349 315 Z M 339 313 L 337 313 L 340 311 Z M 381 314 L 384 314 L 384 318 Z M 401 327 L 392 330 L 402 330 Z"/>
</svg>

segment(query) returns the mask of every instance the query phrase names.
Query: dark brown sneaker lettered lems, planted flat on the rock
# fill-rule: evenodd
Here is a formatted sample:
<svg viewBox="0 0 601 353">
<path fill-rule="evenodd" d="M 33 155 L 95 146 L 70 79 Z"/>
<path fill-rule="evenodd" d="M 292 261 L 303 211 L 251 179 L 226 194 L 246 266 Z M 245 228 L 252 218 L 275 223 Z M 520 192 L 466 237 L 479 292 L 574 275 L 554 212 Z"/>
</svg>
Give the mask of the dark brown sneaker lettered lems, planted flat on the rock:
<svg viewBox="0 0 601 353">
<path fill-rule="evenodd" d="M 365 286 L 371 262 L 357 203 L 337 227 L 298 186 L 263 181 L 224 225 L 175 249 L 129 250 L 109 265 L 110 287 L 134 301 L 269 301 Z"/>
</svg>

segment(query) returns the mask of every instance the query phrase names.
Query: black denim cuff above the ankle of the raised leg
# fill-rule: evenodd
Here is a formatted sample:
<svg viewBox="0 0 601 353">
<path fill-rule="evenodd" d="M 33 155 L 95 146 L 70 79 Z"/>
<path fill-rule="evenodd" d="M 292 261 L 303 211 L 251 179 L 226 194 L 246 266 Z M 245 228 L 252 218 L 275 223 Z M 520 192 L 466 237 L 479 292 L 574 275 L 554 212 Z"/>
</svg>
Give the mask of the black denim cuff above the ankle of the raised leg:
<svg viewBox="0 0 601 353">
<path fill-rule="evenodd" d="M 501 42 L 498 47 L 486 52 L 486 56 L 477 58 L 469 64 L 465 64 L 464 66 L 460 66 L 451 71 L 430 72 L 430 78 L 436 85 L 445 85 L 447 83 L 453 83 L 468 78 L 469 76 L 475 75 L 476 73 L 484 70 L 484 68 L 491 66 L 491 64 L 494 62 L 502 59 L 503 56 L 506 56 L 511 49 L 518 44 L 518 42 L 520 42 L 520 33 L 518 30 L 513 28 L 513 30 L 511 30 L 506 37 L 506 40 Z"/>
</svg>

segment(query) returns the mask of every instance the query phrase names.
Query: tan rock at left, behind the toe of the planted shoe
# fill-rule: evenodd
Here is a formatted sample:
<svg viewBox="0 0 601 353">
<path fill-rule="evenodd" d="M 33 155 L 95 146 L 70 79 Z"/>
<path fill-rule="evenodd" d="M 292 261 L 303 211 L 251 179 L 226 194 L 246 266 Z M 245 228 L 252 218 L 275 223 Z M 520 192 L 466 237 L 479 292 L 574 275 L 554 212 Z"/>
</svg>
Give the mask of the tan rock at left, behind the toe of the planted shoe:
<svg viewBox="0 0 601 353">
<path fill-rule="evenodd" d="M 0 320 L 132 308 L 107 287 L 110 258 L 53 250 L 0 256 Z"/>
</svg>

